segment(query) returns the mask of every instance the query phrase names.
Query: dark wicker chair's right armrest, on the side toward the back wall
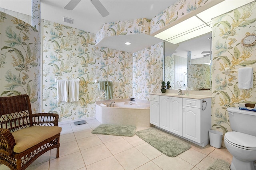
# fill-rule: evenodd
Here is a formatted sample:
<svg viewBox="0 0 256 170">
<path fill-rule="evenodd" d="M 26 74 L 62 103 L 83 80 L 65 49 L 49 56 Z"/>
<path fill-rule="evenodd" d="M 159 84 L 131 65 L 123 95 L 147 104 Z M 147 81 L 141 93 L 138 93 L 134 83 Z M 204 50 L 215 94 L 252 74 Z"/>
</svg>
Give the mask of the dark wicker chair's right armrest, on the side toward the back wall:
<svg viewBox="0 0 256 170">
<path fill-rule="evenodd" d="M 59 115 L 56 113 L 32 114 L 33 126 L 58 126 Z"/>
</svg>

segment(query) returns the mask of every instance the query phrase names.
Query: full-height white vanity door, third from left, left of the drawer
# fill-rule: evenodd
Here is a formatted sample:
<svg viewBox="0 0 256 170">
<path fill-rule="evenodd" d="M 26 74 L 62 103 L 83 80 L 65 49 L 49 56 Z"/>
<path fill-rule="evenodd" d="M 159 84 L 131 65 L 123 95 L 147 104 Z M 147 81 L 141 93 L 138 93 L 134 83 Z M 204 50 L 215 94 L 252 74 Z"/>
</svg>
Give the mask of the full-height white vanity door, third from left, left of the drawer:
<svg viewBox="0 0 256 170">
<path fill-rule="evenodd" d="M 170 132 L 182 136 L 182 98 L 170 97 Z"/>
</svg>

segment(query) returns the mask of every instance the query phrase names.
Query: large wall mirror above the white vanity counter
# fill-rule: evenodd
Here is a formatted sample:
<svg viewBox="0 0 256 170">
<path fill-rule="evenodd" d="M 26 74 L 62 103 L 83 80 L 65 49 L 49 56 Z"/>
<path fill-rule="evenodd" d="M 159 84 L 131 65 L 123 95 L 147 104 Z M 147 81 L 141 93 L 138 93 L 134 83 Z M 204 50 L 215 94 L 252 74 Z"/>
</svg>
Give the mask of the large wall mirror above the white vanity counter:
<svg viewBox="0 0 256 170">
<path fill-rule="evenodd" d="M 212 88 L 210 32 L 175 45 L 165 42 L 164 51 L 164 81 L 171 89 Z"/>
</svg>

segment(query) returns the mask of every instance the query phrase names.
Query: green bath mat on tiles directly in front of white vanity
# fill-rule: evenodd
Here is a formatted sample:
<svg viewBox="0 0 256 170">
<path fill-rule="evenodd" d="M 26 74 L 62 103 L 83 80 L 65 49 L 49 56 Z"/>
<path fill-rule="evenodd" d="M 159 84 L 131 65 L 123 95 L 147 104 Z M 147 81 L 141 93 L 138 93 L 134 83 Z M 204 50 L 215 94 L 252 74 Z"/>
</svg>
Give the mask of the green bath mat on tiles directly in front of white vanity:
<svg viewBox="0 0 256 170">
<path fill-rule="evenodd" d="M 148 128 L 135 133 L 163 154 L 175 157 L 190 149 L 190 144 L 156 128 Z"/>
</svg>

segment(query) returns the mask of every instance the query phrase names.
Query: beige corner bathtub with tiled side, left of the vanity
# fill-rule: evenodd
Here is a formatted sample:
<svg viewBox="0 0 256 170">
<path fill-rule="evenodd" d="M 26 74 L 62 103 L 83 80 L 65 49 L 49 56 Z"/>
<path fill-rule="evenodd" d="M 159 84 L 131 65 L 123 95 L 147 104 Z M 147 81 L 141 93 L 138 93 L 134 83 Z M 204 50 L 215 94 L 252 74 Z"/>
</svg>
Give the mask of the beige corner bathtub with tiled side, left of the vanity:
<svg viewBox="0 0 256 170">
<path fill-rule="evenodd" d="M 111 102 L 114 107 L 107 107 Z M 150 103 L 145 100 L 104 100 L 96 102 L 96 119 L 104 124 L 150 126 Z"/>
</svg>

